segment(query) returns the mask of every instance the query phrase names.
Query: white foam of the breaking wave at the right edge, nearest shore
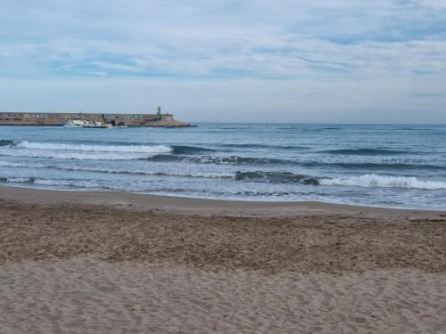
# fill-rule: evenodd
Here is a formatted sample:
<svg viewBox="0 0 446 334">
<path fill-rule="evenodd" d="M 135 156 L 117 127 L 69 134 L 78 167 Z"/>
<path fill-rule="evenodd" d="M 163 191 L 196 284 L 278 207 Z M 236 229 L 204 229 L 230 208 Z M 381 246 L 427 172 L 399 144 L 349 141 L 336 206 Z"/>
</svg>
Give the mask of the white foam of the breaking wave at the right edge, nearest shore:
<svg viewBox="0 0 446 334">
<path fill-rule="evenodd" d="M 417 179 L 417 177 L 384 176 L 376 174 L 321 179 L 319 183 L 325 185 L 353 185 L 359 187 L 446 189 L 446 182 L 423 181 Z"/>
</svg>

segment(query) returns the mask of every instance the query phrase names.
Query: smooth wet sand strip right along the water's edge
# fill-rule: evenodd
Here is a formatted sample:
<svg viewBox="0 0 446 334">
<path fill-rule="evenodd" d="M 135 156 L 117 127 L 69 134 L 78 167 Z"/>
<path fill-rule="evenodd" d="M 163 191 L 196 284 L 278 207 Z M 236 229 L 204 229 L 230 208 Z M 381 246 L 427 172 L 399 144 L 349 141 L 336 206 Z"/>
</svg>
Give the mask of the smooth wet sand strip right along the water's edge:
<svg viewBox="0 0 446 334">
<path fill-rule="evenodd" d="M 19 200 L 52 205 L 100 205 L 131 209 L 160 209 L 189 214 L 231 214 L 229 216 L 294 216 L 342 214 L 365 216 L 446 216 L 445 210 L 381 208 L 318 201 L 207 200 L 143 194 L 126 191 L 71 191 L 0 185 L 0 200 Z"/>
</svg>

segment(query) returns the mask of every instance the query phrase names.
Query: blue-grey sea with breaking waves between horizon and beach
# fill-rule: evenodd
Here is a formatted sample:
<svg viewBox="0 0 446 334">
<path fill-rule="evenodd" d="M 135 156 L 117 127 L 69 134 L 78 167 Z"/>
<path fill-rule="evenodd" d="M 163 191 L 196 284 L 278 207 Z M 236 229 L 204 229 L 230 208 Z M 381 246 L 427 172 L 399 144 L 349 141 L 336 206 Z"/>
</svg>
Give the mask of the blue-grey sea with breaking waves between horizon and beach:
<svg viewBox="0 0 446 334">
<path fill-rule="evenodd" d="M 1 126 L 0 183 L 446 209 L 446 126 Z"/>
</svg>

